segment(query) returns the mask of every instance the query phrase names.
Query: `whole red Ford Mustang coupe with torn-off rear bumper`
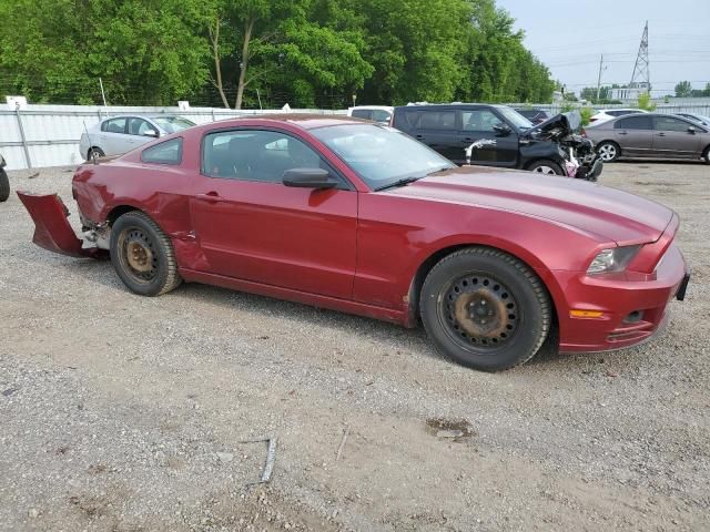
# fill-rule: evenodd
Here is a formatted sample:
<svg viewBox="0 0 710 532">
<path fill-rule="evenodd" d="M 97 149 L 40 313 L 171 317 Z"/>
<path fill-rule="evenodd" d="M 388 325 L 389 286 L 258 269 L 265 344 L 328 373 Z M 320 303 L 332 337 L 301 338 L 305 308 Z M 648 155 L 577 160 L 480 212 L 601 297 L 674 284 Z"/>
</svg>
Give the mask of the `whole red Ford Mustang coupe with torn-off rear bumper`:
<svg viewBox="0 0 710 532">
<path fill-rule="evenodd" d="M 627 347 L 689 274 L 678 216 L 597 184 L 456 167 L 387 126 L 275 115 L 192 127 L 73 178 L 83 242 L 55 195 L 20 197 L 34 242 L 108 250 L 134 293 L 183 280 L 414 327 L 484 370 Z"/>
</svg>

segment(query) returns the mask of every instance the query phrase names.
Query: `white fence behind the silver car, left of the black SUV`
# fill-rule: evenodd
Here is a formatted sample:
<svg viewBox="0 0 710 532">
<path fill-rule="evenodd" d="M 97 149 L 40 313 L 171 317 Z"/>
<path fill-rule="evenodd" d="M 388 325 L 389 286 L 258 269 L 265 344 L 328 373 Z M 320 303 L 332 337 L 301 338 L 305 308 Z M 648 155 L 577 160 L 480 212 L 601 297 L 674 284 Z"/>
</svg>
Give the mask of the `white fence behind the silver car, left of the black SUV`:
<svg viewBox="0 0 710 532">
<path fill-rule="evenodd" d="M 179 114 L 196 124 L 250 114 L 284 113 L 283 110 L 247 110 L 190 108 L 102 108 L 87 105 L 27 105 L 22 110 L 0 105 L 0 153 L 8 170 L 40 168 L 79 164 L 79 140 L 85 127 L 116 114 L 159 116 Z M 318 114 L 343 114 L 346 111 L 292 110 Z"/>
</svg>

